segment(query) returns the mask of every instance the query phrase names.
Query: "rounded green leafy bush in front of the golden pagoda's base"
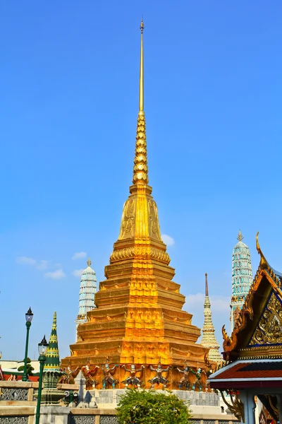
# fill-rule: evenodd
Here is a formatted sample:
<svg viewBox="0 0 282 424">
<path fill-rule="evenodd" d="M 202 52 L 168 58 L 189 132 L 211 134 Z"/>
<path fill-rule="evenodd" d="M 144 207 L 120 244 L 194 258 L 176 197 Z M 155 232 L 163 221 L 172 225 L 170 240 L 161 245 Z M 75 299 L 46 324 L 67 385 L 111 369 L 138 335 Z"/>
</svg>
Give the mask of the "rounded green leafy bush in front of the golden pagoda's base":
<svg viewBox="0 0 282 424">
<path fill-rule="evenodd" d="M 120 424 L 189 424 L 188 407 L 170 391 L 128 389 L 118 404 Z"/>
</svg>

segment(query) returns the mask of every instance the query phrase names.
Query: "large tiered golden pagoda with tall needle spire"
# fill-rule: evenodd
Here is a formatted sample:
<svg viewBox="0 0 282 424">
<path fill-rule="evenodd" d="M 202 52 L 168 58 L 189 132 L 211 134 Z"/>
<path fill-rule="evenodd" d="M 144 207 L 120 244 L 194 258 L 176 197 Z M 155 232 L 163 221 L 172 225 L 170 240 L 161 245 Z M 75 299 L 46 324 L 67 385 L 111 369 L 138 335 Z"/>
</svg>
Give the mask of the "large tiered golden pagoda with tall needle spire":
<svg viewBox="0 0 282 424">
<path fill-rule="evenodd" d="M 148 185 L 147 143 L 144 112 L 143 29 L 141 22 L 139 112 L 133 166 L 133 185 L 123 206 L 121 230 L 114 243 L 106 280 L 99 283 L 94 310 L 78 326 L 78 341 L 63 367 L 99 365 L 95 375 L 102 382 L 106 360 L 114 365 L 145 365 L 142 381 L 154 375 L 148 365 L 171 366 L 169 381 L 179 372 L 173 365 L 205 367 L 207 348 L 196 344 L 200 329 L 191 324 L 192 314 L 182 310 L 185 296 L 172 281 L 166 245 L 161 240 L 157 205 Z M 147 366 L 146 366 L 147 365 Z M 125 370 L 117 367 L 119 387 Z M 174 384 L 174 383 L 173 383 Z M 99 388 L 99 387 L 98 387 Z"/>
</svg>

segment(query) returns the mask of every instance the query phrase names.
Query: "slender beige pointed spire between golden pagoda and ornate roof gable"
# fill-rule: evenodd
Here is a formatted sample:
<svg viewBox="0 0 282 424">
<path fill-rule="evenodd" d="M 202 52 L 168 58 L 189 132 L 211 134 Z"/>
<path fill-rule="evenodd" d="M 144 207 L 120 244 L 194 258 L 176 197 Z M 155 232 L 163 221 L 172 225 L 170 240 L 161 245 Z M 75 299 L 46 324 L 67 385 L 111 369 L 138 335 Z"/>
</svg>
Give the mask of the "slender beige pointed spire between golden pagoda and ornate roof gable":
<svg viewBox="0 0 282 424">
<path fill-rule="evenodd" d="M 219 353 L 219 343 L 216 340 L 214 334 L 214 324 L 212 322 L 212 310 L 211 302 L 209 301 L 209 288 L 207 285 L 207 273 L 206 273 L 206 295 L 204 298 L 204 325 L 202 328 L 202 340 L 201 345 L 209 349 L 209 360 L 213 360 L 215 363 L 222 363 L 222 356 Z"/>
</svg>

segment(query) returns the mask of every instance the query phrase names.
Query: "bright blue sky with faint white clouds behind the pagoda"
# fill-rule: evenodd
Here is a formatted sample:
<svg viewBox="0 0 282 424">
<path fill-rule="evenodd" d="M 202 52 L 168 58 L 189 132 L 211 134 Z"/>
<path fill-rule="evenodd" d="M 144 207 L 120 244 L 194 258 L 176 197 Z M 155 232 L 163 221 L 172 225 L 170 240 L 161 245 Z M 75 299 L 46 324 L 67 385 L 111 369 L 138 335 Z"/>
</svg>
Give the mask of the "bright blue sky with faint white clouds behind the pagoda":
<svg viewBox="0 0 282 424">
<path fill-rule="evenodd" d="M 238 230 L 281 264 L 281 1 L 1 4 L 0 350 L 31 358 L 57 311 L 75 340 L 80 278 L 104 278 L 131 184 L 145 21 L 149 183 L 185 309 L 229 326 Z M 82 256 L 82 255 L 80 255 Z M 25 257 L 28 259 L 19 259 Z"/>
</svg>

